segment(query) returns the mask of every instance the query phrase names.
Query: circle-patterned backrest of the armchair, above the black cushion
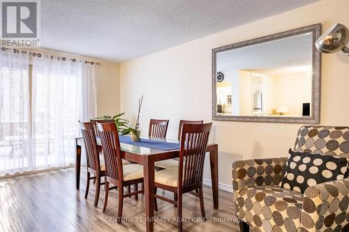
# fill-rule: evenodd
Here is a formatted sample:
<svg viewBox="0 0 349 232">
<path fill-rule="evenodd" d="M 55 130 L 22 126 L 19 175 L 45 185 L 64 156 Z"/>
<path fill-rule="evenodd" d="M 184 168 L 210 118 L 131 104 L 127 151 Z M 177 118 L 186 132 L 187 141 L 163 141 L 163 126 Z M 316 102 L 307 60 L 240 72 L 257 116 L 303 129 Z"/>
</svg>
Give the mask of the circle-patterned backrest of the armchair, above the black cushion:
<svg viewBox="0 0 349 232">
<path fill-rule="evenodd" d="M 304 125 L 298 130 L 294 150 L 349 157 L 349 127 Z"/>
</svg>

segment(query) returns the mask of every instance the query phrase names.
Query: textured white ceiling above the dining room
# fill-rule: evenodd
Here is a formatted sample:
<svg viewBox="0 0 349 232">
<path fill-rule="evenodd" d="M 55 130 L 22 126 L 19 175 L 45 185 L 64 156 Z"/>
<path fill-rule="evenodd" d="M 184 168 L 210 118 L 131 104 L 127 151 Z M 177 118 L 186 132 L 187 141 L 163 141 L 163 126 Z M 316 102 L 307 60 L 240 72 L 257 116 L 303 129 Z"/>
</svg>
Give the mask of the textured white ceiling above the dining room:
<svg viewBox="0 0 349 232">
<path fill-rule="evenodd" d="M 41 47 L 128 61 L 319 0 L 41 0 Z"/>
</svg>

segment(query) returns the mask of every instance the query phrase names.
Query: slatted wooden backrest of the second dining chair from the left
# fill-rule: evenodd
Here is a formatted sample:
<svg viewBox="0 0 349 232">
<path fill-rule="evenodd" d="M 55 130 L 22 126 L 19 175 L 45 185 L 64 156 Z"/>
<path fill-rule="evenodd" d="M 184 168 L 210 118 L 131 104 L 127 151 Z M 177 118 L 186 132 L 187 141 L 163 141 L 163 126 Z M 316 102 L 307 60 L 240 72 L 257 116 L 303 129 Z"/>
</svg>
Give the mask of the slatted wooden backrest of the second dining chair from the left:
<svg viewBox="0 0 349 232">
<path fill-rule="evenodd" d="M 115 123 L 97 123 L 103 148 L 105 176 L 113 180 L 122 180 L 123 169 L 117 125 Z"/>
</svg>

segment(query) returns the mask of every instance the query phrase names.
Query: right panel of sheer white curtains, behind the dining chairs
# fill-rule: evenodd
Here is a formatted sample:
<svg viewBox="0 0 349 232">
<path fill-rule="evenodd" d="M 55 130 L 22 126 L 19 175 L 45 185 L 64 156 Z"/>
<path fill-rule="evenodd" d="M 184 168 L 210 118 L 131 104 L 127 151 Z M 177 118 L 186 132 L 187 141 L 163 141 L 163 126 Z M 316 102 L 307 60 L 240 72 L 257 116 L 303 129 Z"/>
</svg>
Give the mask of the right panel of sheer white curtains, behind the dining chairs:
<svg viewBox="0 0 349 232">
<path fill-rule="evenodd" d="M 32 70 L 32 152 L 35 167 L 73 164 L 78 120 L 96 116 L 94 65 L 34 57 Z"/>
</svg>

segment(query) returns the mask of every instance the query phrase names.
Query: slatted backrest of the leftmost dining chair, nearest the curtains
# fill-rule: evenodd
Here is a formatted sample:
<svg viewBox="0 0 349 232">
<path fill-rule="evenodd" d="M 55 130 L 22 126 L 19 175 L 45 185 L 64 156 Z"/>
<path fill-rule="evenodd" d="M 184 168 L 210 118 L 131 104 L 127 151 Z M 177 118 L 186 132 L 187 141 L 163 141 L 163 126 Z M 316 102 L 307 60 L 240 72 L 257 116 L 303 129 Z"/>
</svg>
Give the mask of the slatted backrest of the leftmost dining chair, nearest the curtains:
<svg viewBox="0 0 349 232">
<path fill-rule="evenodd" d="M 90 122 L 81 123 L 80 128 L 82 137 L 84 138 L 84 144 L 86 148 L 87 167 L 94 169 L 95 171 L 101 170 L 101 164 L 99 160 L 99 153 L 97 148 L 96 134 L 94 127 Z"/>
</svg>

